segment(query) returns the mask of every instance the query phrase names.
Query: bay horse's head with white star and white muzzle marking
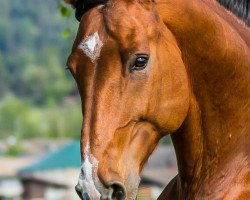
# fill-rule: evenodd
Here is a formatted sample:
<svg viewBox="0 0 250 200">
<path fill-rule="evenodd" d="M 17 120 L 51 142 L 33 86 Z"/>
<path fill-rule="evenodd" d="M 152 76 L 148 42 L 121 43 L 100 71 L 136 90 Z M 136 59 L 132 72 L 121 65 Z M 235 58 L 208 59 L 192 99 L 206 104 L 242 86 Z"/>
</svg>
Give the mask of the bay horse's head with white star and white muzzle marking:
<svg viewBox="0 0 250 200">
<path fill-rule="evenodd" d="M 84 13 L 68 67 L 82 101 L 82 199 L 134 199 L 159 140 L 189 109 L 181 52 L 152 1 L 109 0 Z"/>
</svg>

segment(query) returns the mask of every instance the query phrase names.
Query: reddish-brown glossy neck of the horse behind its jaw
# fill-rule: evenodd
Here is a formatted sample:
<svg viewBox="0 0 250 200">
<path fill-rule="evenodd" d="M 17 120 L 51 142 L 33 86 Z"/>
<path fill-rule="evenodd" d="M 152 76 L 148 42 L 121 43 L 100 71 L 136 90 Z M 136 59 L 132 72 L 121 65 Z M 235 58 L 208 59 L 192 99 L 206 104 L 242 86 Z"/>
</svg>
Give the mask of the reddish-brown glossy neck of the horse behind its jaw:
<svg viewBox="0 0 250 200">
<path fill-rule="evenodd" d="M 250 54 L 243 37 L 249 30 L 237 24 L 243 26 L 240 34 L 207 1 L 161 1 L 158 11 L 177 40 L 190 80 L 189 114 L 172 135 L 183 191 L 221 190 L 218 180 L 239 174 L 250 150 Z M 235 172 L 227 176 L 230 169 Z"/>
</svg>

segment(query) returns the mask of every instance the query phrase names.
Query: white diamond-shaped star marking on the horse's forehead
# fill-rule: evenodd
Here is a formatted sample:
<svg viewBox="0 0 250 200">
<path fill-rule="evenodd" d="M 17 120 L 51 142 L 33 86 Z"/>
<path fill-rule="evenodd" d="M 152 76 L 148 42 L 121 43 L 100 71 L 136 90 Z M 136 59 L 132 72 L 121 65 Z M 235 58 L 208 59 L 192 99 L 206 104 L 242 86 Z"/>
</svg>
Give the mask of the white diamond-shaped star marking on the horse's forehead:
<svg viewBox="0 0 250 200">
<path fill-rule="evenodd" d="M 97 32 L 86 37 L 78 46 L 94 63 L 100 56 L 102 41 Z"/>
</svg>

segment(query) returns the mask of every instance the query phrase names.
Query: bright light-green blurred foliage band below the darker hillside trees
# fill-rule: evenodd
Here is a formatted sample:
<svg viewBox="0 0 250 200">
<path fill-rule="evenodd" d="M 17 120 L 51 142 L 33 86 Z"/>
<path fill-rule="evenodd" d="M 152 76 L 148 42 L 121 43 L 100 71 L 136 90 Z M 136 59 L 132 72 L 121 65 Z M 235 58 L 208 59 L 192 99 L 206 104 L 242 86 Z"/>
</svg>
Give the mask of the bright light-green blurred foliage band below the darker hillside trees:
<svg viewBox="0 0 250 200">
<path fill-rule="evenodd" d="M 75 98 L 52 107 L 34 107 L 11 95 L 0 103 L 0 138 L 79 138 L 81 121 L 80 102 Z"/>
</svg>

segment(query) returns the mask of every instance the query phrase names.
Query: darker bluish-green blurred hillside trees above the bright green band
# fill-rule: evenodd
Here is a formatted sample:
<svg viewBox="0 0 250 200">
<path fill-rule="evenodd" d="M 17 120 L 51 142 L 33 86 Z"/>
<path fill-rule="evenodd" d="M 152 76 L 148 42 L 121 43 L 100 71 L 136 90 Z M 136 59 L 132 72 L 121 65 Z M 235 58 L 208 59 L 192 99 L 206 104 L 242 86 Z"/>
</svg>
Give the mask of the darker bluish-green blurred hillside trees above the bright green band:
<svg viewBox="0 0 250 200">
<path fill-rule="evenodd" d="M 61 12 L 67 16 L 62 18 L 57 5 L 51 0 L 1 3 L 0 99 L 11 92 L 45 105 L 57 103 L 72 89 L 73 81 L 63 68 L 77 22 L 70 9 L 60 3 Z"/>
</svg>

